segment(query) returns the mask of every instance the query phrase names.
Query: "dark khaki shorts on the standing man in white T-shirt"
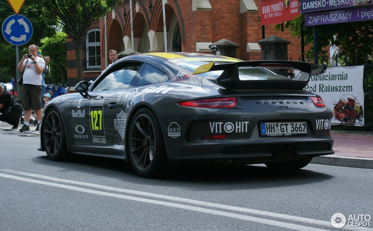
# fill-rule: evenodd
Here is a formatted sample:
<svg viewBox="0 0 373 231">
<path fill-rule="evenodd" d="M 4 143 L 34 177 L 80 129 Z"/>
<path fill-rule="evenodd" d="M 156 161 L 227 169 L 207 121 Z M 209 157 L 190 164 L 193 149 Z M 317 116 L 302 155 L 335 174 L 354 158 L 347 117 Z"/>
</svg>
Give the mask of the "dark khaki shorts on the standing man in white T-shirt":
<svg viewBox="0 0 373 231">
<path fill-rule="evenodd" d="M 23 84 L 22 85 L 22 103 L 24 110 L 41 109 L 41 85 Z M 32 105 L 32 107 L 31 107 Z"/>
</svg>

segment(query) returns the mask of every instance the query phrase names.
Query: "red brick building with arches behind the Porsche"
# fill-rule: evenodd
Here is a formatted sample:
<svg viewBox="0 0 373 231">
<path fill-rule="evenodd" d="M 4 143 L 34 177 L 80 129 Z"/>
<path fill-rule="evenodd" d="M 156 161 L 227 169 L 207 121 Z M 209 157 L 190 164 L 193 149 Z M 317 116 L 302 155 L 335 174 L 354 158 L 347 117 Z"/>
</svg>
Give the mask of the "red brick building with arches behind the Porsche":
<svg viewBox="0 0 373 231">
<path fill-rule="evenodd" d="M 260 60 L 262 40 L 260 0 L 164 0 L 168 52 L 211 53 L 209 45 L 226 39 L 239 45 L 236 58 Z M 131 32 L 131 12 L 132 25 Z M 129 0 L 92 25 L 83 43 L 83 78 L 92 80 L 110 64 L 106 53 L 133 49 L 140 53 L 164 51 L 162 0 Z M 264 37 L 281 37 L 288 45 L 288 58 L 301 56 L 300 40 L 289 32 L 278 32 L 275 24 L 264 27 Z M 106 32 L 106 33 L 105 33 Z M 133 39 L 131 39 L 133 34 Z M 133 47 L 132 47 L 133 40 Z M 105 47 L 105 44 L 107 46 Z M 68 81 L 77 82 L 75 48 L 67 40 Z"/>
</svg>

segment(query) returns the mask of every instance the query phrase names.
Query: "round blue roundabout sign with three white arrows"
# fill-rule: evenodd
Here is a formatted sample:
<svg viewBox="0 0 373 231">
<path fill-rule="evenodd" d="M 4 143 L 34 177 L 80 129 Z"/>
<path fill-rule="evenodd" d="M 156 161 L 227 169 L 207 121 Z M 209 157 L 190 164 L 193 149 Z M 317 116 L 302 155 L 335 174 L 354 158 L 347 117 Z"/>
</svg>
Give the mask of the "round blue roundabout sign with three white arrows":
<svg viewBox="0 0 373 231">
<path fill-rule="evenodd" d="M 32 25 L 23 15 L 10 15 L 3 22 L 2 32 L 8 43 L 20 46 L 31 39 Z"/>
</svg>

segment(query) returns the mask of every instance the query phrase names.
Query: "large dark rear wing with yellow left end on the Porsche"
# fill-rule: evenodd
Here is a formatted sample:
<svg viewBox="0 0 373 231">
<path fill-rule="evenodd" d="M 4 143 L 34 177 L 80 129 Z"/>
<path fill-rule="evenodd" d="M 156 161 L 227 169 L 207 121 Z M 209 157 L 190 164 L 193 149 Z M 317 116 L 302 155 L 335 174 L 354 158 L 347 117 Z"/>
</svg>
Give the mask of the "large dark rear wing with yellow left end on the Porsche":
<svg viewBox="0 0 373 231">
<path fill-rule="evenodd" d="M 238 69 L 247 68 L 268 68 L 298 71 L 297 76 L 292 83 L 289 81 L 245 81 L 239 79 Z M 223 73 L 214 82 L 219 85 L 235 89 L 303 89 L 313 75 L 323 74 L 326 71 L 326 65 L 316 65 L 309 62 L 282 61 L 282 60 L 262 60 L 262 61 L 243 61 L 228 64 L 215 64 L 211 62 L 197 67 L 193 74 L 201 74 L 209 71 L 223 71 Z"/>
</svg>

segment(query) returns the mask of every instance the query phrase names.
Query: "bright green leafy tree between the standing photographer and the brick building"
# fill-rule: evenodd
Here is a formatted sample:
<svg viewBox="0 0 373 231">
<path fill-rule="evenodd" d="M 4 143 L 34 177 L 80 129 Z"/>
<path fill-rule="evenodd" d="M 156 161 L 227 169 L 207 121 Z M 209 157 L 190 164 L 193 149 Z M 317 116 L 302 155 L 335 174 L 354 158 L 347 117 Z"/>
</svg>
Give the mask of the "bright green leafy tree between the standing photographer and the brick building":
<svg viewBox="0 0 373 231">
<path fill-rule="evenodd" d="M 47 76 L 51 83 L 62 83 L 65 86 L 67 80 L 66 34 L 57 32 L 54 36 L 43 39 L 41 44 L 42 54 L 50 58 Z"/>
</svg>

